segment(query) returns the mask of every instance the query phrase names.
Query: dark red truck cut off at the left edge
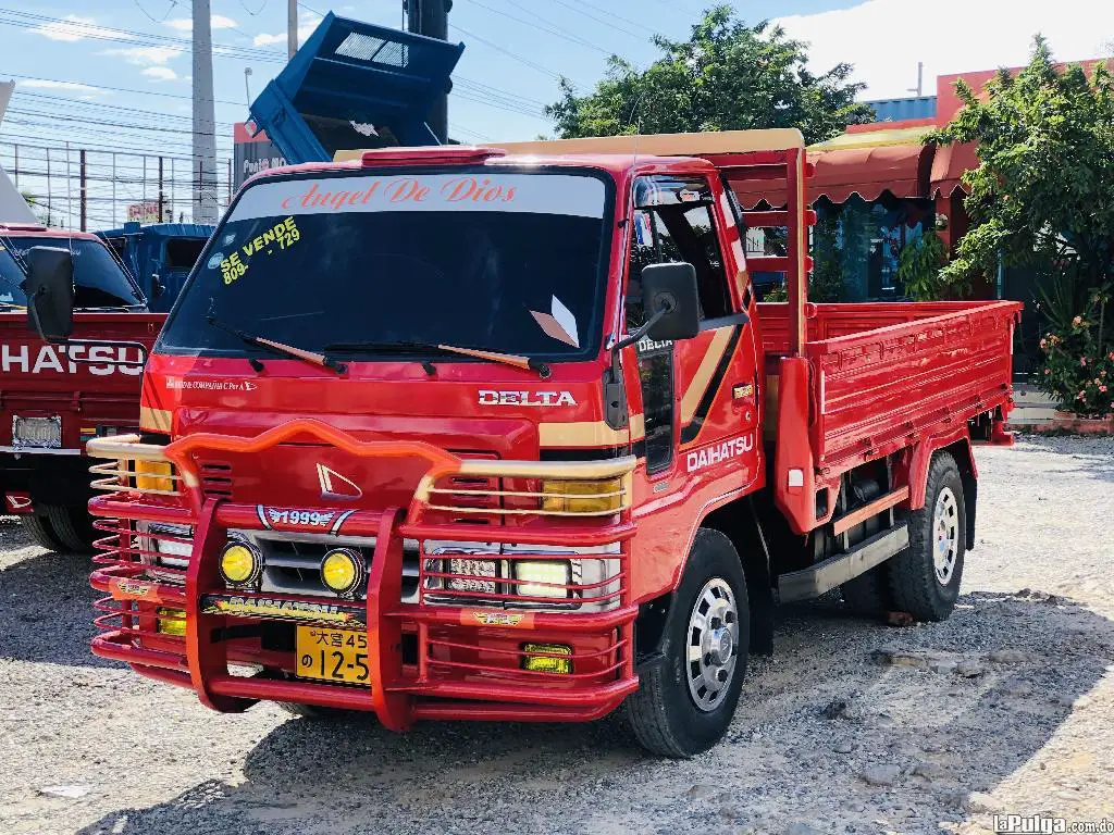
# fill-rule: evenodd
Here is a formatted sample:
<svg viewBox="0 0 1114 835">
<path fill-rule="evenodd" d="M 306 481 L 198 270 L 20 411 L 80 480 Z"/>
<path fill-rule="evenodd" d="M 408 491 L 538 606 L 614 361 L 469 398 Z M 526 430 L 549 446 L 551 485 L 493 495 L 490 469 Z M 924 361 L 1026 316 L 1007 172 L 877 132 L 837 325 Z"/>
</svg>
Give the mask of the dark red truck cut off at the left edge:
<svg viewBox="0 0 1114 835">
<path fill-rule="evenodd" d="M 78 338 L 43 342 L 27 323 L 20 262 L 62 247 L 72 262 Z M 94 438 L 138 426 L 143 360 L 164 315 L 91 234 L 0 224 L 0 491 L 43 548 L 92 550 L 88 511 Z"/>
</svg>

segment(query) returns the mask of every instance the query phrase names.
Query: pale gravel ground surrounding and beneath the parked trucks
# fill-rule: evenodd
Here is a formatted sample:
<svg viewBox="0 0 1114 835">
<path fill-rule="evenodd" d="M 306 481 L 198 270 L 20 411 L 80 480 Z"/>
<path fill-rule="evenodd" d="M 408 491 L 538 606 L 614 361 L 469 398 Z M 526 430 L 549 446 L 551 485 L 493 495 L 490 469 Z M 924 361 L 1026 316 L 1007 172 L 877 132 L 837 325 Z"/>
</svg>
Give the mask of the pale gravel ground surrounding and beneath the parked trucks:
<svg viewBox="0 0 1114 835">
<path fill-rule="evenodd" d="M 240 716 L 88 650 L 87 563 L 0 523 L 0 833 L 981 833 L 1114 819 L 1114 440 L 980 450 L 946 623 L 785 608 L 729 738 L 691 762 L 622 721 Z"/>
</svg>

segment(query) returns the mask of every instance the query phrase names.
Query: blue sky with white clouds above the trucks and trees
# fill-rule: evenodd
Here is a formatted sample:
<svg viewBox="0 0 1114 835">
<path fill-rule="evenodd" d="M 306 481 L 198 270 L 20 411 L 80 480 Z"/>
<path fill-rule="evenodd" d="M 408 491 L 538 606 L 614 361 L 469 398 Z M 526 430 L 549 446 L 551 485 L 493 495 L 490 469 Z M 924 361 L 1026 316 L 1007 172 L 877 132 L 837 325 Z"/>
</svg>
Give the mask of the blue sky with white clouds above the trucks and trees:
<svg viewBox="0 0 1114 835">
<path fill-rule="evenodd" d="M 450 102 L 452 135 L 521 139 L 548 132 L 541 107 L 556 76 L 588 89 L 618 53 L 636 65 L 655 58 L 648 39 L 681 39 L 703 0 L 455 0 L 450 35 L 467 49 Z M 1111 0 L 740 0 L 747 21 L 775 17 L 811 43 L 814 70 L 841 60 L 857 67 L 868 98 L 908 95 L 917 61 L 927 91 L 937 73 L 1016 65 L 1032 35 L 1044 31 L 1057 57 L 1114 51 Z M 301 7 L 303 36 L 324 0 Z M 331 7 L 387 26 L 401 22 L 401 0 Z M 608 12 L 607 10 L 614 10 Z M 244 69 L 258 92 L 285 59 L 284 0 L 213 0 L 218 154 L 227 156 L 233 121 L 245 116 Z M 62 21 L 62 22 L 57 22 Z M 100 27 L 100 28 L 94 28 Z M 105 29 L 107 28 L 107 29 Z M 973 35 L 977 32 L 977 35 Z M 0 127 L 0 163 L 10 145 L 69 139 L 95 149 L 189 153 L 188 0 L 0 0 L 0 79 L 16 96 Z M 186 40 L 178 40 L 186 39 Z M 231 51 L 225 49 L 231 48 Z M 245 52 L 244 50 L 251 50 Z M 146 177 L 146 174 L 144 175 Z"/>
</svg>

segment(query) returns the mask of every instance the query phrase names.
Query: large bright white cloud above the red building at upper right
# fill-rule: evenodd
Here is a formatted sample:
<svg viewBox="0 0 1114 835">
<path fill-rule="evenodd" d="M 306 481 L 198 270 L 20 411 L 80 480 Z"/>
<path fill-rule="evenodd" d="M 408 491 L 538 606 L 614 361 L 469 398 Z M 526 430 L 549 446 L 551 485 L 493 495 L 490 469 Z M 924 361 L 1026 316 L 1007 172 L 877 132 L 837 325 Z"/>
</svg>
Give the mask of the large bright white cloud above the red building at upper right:
<svg viewBox="0 0 1114 835">
<path fill-rule="evenodd" d="M 790 37 L 810 42 L 813 71 L 849 61 L 854 79 L 867 84 L 863 98 L 880 99 L 913 95 L 908 88 L 917 84 L 918 61 L 925 62 L 926 95 L 936 92 L 937 76 L 1024 65 L 1037 32 L 1057 60 L 1095 58 L 1114 31 L 1114 3 L 936 0 L 926 12 L 909 0 L 866 0 L 776 22 Z"/>
</svg>

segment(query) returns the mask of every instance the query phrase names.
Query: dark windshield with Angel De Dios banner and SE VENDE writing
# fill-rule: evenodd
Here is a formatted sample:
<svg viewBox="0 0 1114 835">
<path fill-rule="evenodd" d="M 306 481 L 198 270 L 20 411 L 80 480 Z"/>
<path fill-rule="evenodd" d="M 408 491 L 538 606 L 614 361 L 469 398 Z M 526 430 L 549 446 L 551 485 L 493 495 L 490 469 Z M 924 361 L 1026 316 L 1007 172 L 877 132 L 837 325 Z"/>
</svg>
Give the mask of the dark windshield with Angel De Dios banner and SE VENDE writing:
<svg viewBox="0 0 1114 835">
<path fill-rule="evenodd" d="M 590 355 L 612 191 L 603 175 L 569 169 L 263 180 L 211 238 L 158 350 L 257 353 L 215 317 L 361 360 L 422 353 L 419 343 Z"/>
</svg>

